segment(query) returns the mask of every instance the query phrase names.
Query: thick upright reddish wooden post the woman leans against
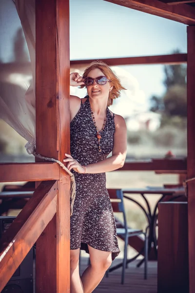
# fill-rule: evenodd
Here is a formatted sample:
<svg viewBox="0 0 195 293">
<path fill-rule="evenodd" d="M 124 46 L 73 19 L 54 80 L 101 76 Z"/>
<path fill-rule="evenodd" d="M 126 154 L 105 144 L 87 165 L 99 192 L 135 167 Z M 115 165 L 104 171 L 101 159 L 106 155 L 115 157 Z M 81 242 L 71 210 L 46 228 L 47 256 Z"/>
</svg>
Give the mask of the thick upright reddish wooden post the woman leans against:
<svg viewBox="0 0 195 293">
<path fill-rule="evenodd" d="M 36 0 L 36 149 L 70 153 L 69 0 Z M 70 292 L 70 180 L 59 167 L 57 213 L 37 241 L 36 293 Z"/>
</svg>

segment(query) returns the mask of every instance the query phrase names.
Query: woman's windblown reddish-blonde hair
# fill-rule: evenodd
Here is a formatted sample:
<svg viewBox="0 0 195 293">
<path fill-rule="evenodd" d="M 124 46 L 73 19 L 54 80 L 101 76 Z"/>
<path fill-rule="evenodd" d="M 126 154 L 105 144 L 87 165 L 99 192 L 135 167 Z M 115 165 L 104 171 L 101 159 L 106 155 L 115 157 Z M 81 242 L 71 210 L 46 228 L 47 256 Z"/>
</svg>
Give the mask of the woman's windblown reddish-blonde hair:
<svg viewBox="0 0 195 293">
<path fill-rule="evenodd" d="M 89 66 L 85 69 L 82 78 L 86 78 L 89 72 L 93 69 L 100 69 L 103 74 L 110 80 L 113 89 L 109 92 L 108 96 L 108 103 L 107 105 L 110 106 L 113 104 L 113 100 L 120 96 L 120 90 L 126 89 L 120 84 L 119 78 L 114 74 L 114 72 L 110 69 L 110 67 L 104 63 L 103 61 L 94 61 L 89 64 Z M 86 87 L 86 85 L 82 84 L 80 88 Z"/>
</svg>

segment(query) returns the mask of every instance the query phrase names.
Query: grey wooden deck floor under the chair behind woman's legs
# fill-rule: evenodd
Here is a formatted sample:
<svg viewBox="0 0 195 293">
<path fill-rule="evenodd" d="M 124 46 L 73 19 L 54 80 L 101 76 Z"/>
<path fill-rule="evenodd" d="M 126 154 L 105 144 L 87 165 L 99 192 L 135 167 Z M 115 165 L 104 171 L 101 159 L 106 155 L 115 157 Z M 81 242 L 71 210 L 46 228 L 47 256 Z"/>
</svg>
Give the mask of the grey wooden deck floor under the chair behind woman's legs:
<svg viewBox="0 0 195 293">
<path fill-rule="evenodd" d="M 115 264 L 121 262 L 116 259 Z M 157 293 L 157 262 L 148 263 L 148 279 L 143 278 L 143 266 L 136 267 L 137 261 L 129 264 L 125 272 L 125 284 L 120 284 L 121 268 L 104 277 L 94 293 Z M 87 259 L 81 259 L 81 273 L 85 270 Z"/>
</svg>

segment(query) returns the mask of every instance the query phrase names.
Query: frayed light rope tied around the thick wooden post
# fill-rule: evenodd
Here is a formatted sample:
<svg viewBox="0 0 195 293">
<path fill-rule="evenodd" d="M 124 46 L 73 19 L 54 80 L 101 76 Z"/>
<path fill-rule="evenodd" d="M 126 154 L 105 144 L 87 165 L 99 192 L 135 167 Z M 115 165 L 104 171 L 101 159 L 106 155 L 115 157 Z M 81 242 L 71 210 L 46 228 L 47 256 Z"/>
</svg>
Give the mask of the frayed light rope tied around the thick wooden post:
<svg viewBox="0 0 195 293">
<path fill-rule="evenodd" d="M 75 183 L 75 175 L 69 171 L 69 169 L 64 166 L 63 163 L 61 163 L 59 160 L 53 159 L 53 158 L 48 158 L 48 157 L 44 157 L 40 154 L 37 154 L 35 151 L 33 151 L 33 155 L 39 159 L 42 160 L 47 160 L 50 162 L 55 162 L 58 163 L 60 167 L 62 167 L 62 169 L 64 169 L 69 175 L 70 175 L 70 198 L 71 198 L 71 205 L 70 205 L 70 215 L 72 216 L 73 214 L 73 206 L 74 206 L 74 202 L 75 202 L 75 196 L 76 196 L 76 183 Z"/>
</svg>

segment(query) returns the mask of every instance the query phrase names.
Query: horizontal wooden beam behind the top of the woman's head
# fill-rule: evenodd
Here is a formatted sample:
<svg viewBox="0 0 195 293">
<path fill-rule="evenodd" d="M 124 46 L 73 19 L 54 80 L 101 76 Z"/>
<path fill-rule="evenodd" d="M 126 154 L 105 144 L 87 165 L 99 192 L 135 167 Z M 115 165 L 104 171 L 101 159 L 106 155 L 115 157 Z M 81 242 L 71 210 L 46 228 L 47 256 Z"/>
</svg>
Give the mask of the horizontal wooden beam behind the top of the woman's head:
<svg viewBox="0 0 195 293">
<path fill-rule="evenodd" d="M 141 56 L 141 57 L 122 57 L 122 58 L 101 58 L 105 63 L 110 66 L 115 65 L 138 65 L 138 64 L 181 64 L 187 62 L 187 54 L 171 54 L 171 55 L 156 55 L 156 56 Z M 87 66 L 93 62 L 89 60 L 72 60 L 70 65 L 72 67 Z"/>
</svg>

